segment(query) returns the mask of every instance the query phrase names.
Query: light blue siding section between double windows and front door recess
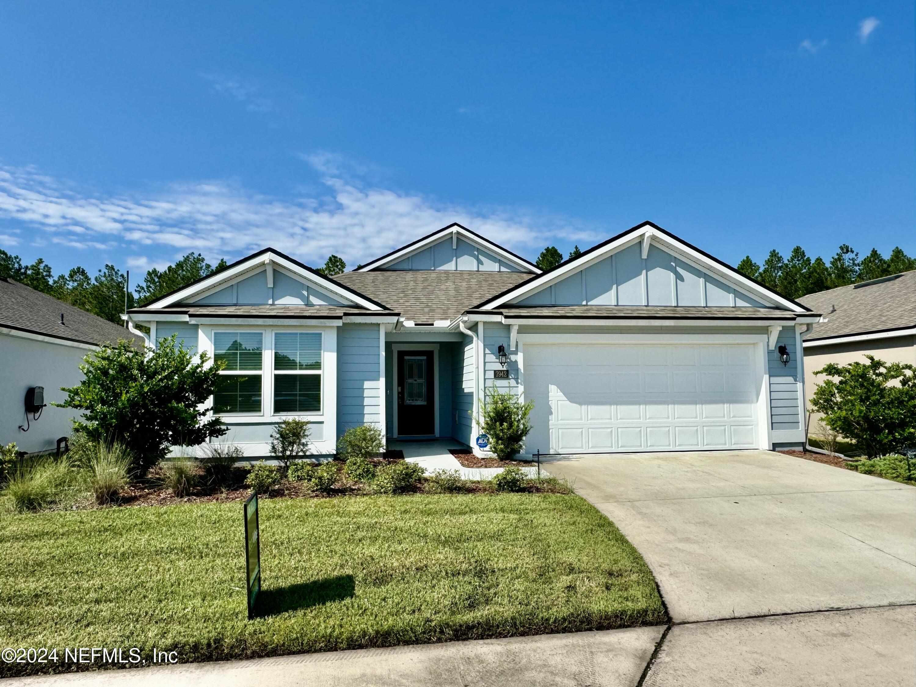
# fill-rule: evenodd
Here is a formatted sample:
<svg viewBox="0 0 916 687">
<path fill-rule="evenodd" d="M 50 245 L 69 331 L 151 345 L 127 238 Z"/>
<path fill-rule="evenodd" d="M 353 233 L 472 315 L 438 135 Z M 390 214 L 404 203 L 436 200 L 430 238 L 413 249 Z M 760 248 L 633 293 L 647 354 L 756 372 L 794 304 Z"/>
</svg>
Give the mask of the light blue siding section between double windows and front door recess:
<svg viewBox="0 0 916 687">
<path fill-rule="evenodd" d="M 337 434 L 381 421 L 377 324 L 344 324 L 337 331 Z"/>
</svg>

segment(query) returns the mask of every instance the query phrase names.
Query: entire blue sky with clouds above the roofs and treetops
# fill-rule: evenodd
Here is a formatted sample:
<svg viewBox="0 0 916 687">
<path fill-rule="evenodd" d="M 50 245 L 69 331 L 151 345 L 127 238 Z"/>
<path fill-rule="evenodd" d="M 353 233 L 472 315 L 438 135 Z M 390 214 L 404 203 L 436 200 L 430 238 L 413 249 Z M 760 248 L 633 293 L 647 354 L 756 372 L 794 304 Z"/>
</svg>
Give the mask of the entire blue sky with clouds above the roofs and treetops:
<svg viewBox="0 0 916 687">
<path fill-rule="evenodd" d="M 916 254 L 911 2 L 0 5 L 0 247 Z"/>
</svg>

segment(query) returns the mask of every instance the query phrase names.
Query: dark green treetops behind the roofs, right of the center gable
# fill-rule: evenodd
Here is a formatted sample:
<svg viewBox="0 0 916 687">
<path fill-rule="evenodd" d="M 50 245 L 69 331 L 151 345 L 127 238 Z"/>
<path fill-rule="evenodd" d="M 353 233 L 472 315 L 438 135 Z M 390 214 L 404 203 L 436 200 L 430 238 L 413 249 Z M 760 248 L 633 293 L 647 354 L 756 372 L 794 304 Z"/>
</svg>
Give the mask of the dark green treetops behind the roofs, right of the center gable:
<svg viewBox="0 0 916 687">
<path fill-rule="evenodd" d="M 579 246 L 576 245 L 567 259 L 581 253 Z M 540 252 L 535 264 L 546 271 L 562 261 L 563 254 L 557 247 L 548 245 Z M 839 247 L 829 263 L 820 256 L 812 260 L 801 245 L 796 245 L 788 259 L 783 258 L 780 252 L 774 249 L 769 251 L 769 256 L 763 261 L 763 267 L 750 256 L 746 256 L 737 267 L 737 270 L 747 277 L 757 279 L 761 284 L 793 300 L 809 293 L 889 277 L 911 269 L 916 269 L 916 258 L 908 256 L 900 246 L 890 251 L 887 258 L 878 253 L 877 248 L 872 248 L 871 252 L 860 260 L 858 253 L 846 244 Z"/>
</svg>

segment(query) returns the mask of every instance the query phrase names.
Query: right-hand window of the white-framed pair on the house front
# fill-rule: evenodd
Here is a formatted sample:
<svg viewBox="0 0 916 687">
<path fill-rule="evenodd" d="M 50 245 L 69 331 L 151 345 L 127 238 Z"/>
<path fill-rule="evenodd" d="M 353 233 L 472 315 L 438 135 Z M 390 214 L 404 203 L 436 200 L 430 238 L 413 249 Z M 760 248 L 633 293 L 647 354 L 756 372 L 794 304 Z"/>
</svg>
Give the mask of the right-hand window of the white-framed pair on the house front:
<svg viewBox="0 0 916 687">
<path fill-rule="evenodd" d="M 274 333 L 274 414 L 322 411 L 322 334 Z"/>
</svg>

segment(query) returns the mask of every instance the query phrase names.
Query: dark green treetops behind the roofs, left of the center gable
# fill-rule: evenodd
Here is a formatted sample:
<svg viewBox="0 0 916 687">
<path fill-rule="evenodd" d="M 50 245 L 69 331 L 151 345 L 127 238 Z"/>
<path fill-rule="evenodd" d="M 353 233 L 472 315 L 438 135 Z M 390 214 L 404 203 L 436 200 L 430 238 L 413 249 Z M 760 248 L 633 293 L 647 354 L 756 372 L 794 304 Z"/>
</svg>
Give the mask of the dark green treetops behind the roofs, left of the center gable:
<svg viewBox="0 0 916 687">
<path fill-rule="evenodd" d="M 225 258 L 212 266 L 200 253 L 189 253 L 162 270 L 153 267 L 147 271 L 141 283 L 128 291 L 127 308 L 142 308 L 192 281 L 212 275 L 226 265 Z M 318 271 L 333 277 L 341 274 L 344 269 L 346 263 L 343 259 L 330 256 Z M 66 274 L 61 272 L 55 277 L 43 258 L 39 257 L 31 265 L 25 265 L 19 256 L 0 249 L 0 278 L 18 281 L 109 322 L 124 322 L 121 315 L 124 313 L 126 275 L 114 265 L 106 264 L 94 278 L 84 267 L 73 267 Z"/>
</svg>

